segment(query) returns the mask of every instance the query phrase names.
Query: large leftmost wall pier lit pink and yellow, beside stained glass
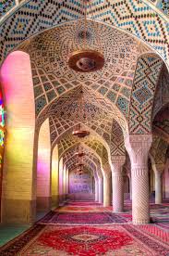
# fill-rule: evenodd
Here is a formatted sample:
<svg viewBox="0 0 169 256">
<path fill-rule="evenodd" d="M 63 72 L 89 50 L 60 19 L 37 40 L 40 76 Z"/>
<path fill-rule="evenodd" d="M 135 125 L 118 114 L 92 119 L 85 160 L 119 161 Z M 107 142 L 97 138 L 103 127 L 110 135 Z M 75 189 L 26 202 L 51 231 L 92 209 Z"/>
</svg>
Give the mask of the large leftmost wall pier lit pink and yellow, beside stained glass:
<svg viewBox="0 0 169 256">
<path fill-rule="evenodd" d="M 6 107 L 6 148 L 3 171 L 3 222 L 31 223 L 35 218 L 34 161 L 35 109 L 30 57 L 8 55 L 0 81 Z"/>
</svg>

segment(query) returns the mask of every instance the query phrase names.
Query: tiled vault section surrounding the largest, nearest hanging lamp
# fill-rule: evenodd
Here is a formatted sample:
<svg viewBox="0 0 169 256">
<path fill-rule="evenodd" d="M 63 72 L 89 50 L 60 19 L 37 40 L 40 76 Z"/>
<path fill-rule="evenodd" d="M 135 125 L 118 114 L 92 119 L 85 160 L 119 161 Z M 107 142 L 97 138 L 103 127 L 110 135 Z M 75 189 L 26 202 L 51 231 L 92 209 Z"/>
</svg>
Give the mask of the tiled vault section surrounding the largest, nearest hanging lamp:
<svg viewBox="0 0 169 256">
<path fill-rule="evenodd" d="M 89 21 L 88 45 L 97 48 L 92 24 Z M 43 32 L 30 44 L 26 42 L 20 46 L 30 54 L 36 114 L 39 115 L 58 96 L 82 84 L 103 96 L 109 104 L 116 105 L 127 118 L 134 71 L 141 51 L 139 42 L 127 34 L 98 24 L 105 65 L 102 70 L 91 73 L 76 72 L 69 69 L 67 56 L 83 44 L 80 25 L 73 21 Z"/>
</svg>

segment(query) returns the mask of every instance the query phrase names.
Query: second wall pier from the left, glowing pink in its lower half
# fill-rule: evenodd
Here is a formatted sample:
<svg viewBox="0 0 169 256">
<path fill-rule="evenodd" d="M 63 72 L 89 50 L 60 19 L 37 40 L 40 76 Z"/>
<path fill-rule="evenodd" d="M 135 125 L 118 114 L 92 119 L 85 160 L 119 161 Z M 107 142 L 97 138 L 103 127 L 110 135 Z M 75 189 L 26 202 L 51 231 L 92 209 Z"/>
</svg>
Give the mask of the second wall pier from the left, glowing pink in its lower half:
<svg viewBox="0 0 169 256">
<path fill-rule="evenodd" d="M 49 119 L 42 123 L 38 141 L 37 160 L 37 210 L 51 208 L 51 140 Z"/>
</svg>

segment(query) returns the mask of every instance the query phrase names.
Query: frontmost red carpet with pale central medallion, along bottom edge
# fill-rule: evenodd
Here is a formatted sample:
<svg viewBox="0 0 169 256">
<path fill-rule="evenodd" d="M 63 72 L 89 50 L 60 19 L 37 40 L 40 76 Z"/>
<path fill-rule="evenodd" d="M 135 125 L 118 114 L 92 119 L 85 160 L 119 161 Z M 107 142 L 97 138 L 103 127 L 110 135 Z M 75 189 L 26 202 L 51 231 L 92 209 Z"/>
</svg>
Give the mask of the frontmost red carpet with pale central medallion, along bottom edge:
<svg viewBox="0 0 169 256">
<path fill-rule="evenodd" d="M 62 226 L 36 224 L 0 248 L 1 256 L 167 256 L 168 243 L 132 224 Z"/>
</svg>

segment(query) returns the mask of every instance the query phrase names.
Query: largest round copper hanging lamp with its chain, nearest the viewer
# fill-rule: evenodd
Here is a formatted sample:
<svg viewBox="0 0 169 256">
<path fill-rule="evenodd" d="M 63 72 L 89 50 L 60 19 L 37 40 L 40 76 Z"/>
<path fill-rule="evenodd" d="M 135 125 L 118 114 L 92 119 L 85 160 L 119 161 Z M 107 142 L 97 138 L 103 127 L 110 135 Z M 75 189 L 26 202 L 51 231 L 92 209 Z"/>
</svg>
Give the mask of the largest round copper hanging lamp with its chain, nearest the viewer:
<svg viewBox="0 0 169 256">
<path fill-rule="evenodd" d="M 83 18 L 80 19 L 79 22 L 82 22 L 83 30 L 78 32 L 79 36 L 82 39 L 82 44 L 80 49 L 76 49 L 70 53 L 68 57 L 68 66 L 72 70 L 76 70 L 78 72 L 92 72 L 101 70 L 104 65 L 104 57 L 102 52 L 102 45 L 100 40 L 100 34 L 98 32 L 97 23 L 92 20 L 94 24 L 93 33 L 96 37 L 95 42 L 97 45 L 94 45 L 96 49 L 92 49 L 91 44 L 88 42 L 88 38 L 90 36 L 90 32 L 88 31 L 88 27 L 90 26 L 90 22 L 87 20 L 87 8 L 89 7 L 89 12 L 92 18 L 92 9 L 91 9 L 92 0 L 81 0 L 82 6 L 82 14 Z"/>
</svg>

